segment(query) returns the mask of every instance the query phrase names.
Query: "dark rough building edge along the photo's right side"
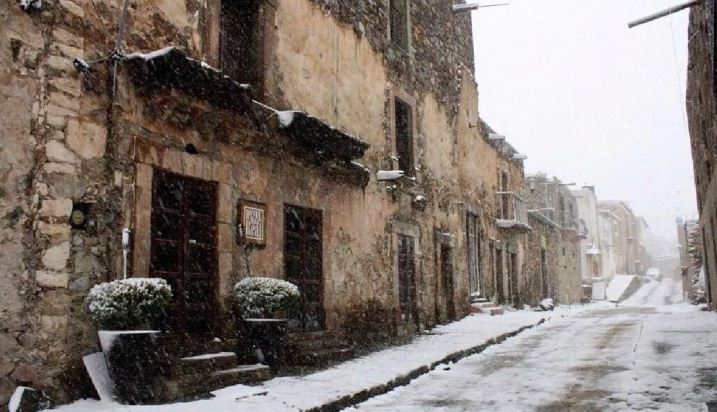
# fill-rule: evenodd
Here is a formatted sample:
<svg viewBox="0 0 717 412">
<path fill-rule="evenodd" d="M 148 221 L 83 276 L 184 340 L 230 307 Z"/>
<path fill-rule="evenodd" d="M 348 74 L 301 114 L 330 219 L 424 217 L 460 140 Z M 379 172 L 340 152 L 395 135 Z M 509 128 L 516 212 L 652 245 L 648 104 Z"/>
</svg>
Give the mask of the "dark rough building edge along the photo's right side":
<svg viewBox="0 0 717 412">
<path fill-rule="evenodd" d="M 705 250 L 707 300 L 717 309 L 717 63 L 715 2 L 692 6 L 688 28 L 687 118 L 692 146 L 697 209 Z"/>
</svg>

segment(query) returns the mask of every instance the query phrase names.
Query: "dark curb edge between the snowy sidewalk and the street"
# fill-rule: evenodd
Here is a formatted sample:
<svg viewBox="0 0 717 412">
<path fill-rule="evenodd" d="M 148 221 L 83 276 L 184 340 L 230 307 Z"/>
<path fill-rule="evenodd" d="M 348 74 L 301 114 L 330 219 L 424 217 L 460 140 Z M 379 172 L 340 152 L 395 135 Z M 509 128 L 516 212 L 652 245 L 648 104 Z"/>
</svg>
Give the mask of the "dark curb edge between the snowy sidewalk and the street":
<svg viewBox="0 0 717 412">
<path fill-rule="evenodd" d="M 463 350 L 459 350 L 459 351 L 453 352 L 451 354 L 448 354 L 447 356 L 444 356 L 442 359 L 432 362 L 430 365 L 421 366 L 420 368 L 416 368 L 416 369 L 414 369 L 404 375 L 398 376 L 384 384 L 376 385 L 371 388 L 364 389 L 360 392 L 342 396 L 336 400 L 325 403 L 321 406 L 317 406 L 317 407 L 311 408 L 311 409 L 306 409 L 305 412 L 338 412 L 342 409 L 358 405 L 359 403 L 366 402 L 367 400 L 374 398 L 376 396 L 384 395 L 388 392 L 391 392 L 392 390 L 398 388 L 399 386 L 406 386 L 409 383 L 411 383 L 412 380 L 418 378 L 419 376 L 425 375 L 428 372 L 431 372 L 432 370 L 436 369 L 439 365 L 442 365 L 442 364 L 448 363 L 448 362 L 455 363 L 465 357 L 483 352 L 484 350 L 486 350 L 487 348 L 489 348 L 493 345 L 503 343 L 506 339 L 512 338 L 528 329 L 532 329 L 536 326 L 542 325 L 543 323 L 545 323 L 545 319 L 541 319 L 538 323 L 535 323 L 532 325 L 523 326 L 523 327 L 518 328 L 512 332 L 504 333 L 504 334 L 496 336 L 494 338 L 490 338 L 487 341 L 481 343 L 480 345 L 472 346 L 468 349 L 463 349 Z"/>
</svg>

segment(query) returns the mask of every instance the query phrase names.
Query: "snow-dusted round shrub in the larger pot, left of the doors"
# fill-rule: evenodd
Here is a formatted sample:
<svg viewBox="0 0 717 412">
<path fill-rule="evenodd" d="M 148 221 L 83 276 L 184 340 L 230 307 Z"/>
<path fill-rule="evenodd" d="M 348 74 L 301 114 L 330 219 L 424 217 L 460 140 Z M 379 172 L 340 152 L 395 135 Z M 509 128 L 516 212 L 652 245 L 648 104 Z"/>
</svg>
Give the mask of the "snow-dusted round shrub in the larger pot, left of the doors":
<svg viewBox="0 0 717 412">
<path fill-rule="evenodd" d="M 90 316 L 101 328 L 118 330 L 155 324 L 171 301 L 172 288 L 157 278 L 100 283 L 86 300 Z"/>
</svg>

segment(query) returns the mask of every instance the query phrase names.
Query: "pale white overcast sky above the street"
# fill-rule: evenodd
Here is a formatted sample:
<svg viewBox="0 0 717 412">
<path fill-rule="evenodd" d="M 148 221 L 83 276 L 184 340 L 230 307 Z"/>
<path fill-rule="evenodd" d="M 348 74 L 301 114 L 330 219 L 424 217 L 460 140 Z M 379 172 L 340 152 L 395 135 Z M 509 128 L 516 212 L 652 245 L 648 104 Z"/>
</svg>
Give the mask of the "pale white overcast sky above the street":
<svg viewBox="0 0 717 412">
<path fill-rule="evenodd" d="M 697 215 L 688 12 L 627 23 L 680 0 L 508 1 L 473 13 L 483 119 L 528 155 L 526 173 L 594 185 L 674 239 L 675 217 Z"/>
</svg>

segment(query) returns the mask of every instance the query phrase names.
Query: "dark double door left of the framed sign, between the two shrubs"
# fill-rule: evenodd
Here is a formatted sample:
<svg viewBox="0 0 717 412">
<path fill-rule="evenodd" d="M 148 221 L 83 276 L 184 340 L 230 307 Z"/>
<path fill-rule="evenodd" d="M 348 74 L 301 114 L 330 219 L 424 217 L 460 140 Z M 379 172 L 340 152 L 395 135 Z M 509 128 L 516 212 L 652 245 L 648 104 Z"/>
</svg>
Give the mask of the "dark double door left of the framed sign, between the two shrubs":
<svg viewBox="0 0 717 412">
<path fill-rule="evenodd" d="M 214 326 L 216 205 L 215 183 L 154 171 L 150 275 L 172 287 L 165 322 L 178 332 L 208 334 Z"/>
</svg>

